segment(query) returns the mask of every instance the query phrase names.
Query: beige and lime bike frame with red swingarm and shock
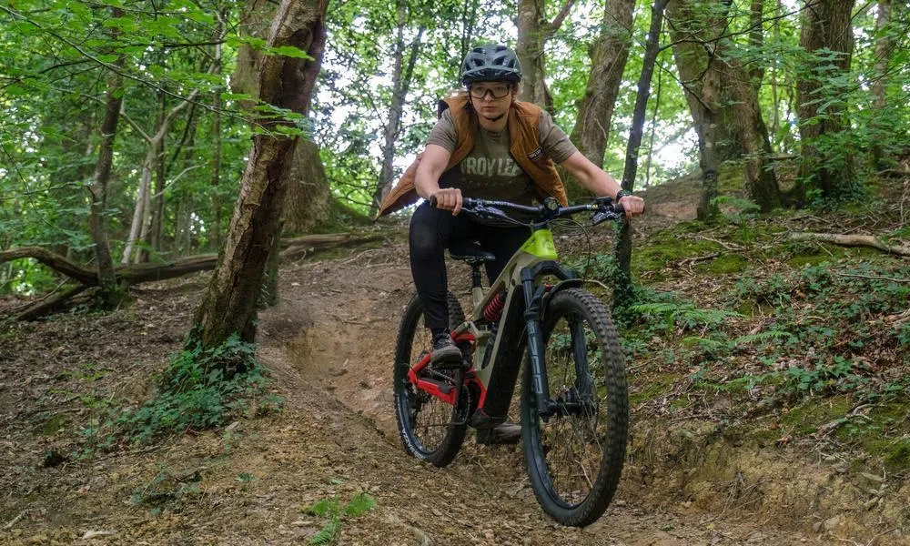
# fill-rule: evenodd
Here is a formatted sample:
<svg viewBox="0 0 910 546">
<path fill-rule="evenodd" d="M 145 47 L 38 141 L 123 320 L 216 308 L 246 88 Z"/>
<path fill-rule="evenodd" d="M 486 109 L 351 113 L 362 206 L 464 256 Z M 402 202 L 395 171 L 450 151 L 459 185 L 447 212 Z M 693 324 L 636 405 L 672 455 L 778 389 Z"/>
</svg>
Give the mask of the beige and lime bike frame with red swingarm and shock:
<svg viewBox="0 0 910 546">
<path fill-rule="evenodd" d="M 554 411 L 543 361 L 543 339 L 540 336 L 542 311 L 552 294 L 562 288 L 581 286 L 581 279 L 555 261 L 556 247 L 549 227 L 549 220 L 533 224 L 531 237 L 510 258 L 490 288 L 483 290 L 476 282 L 471 288 L 474 308 L 470 318 L 452 332 L 452 339 L 462 348 L 462 366 L 467 370 L 458 389 L 419 377 L 420 370 L 430 364 L 429 354 L 410 369 L 410 381 L 415 387 L 452 405 L 459 399 L 464 385 L 475 385 L 480 395 L 478 410 L 472 416 L 471 424 L 474 426 L 484 421 L 496 424 L 505 419 L 518 379 L 524 342 L 529 348 L 538 411 L 543 416 Z M 541 285 L 538 279 L 545 275 L 552 275 L 560 281 L 555 285 Z M 499 328 L 494 329 L 484 318 L 483 311 L 502 291 L 506 292 L 505 306 L 497 322 Z M 477 366 L 478 363 L 480 366 Z"/>
</svg>

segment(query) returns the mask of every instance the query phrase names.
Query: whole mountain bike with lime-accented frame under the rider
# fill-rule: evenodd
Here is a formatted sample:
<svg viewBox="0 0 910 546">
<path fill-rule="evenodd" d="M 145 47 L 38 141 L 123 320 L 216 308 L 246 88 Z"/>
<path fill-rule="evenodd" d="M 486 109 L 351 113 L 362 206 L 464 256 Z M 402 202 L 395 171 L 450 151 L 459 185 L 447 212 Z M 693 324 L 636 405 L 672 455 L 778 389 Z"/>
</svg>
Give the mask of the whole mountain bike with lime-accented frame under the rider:
<svg viewBox="0 0 910 546">
<path fill-rule="evenodd" d="M 554 520 L 578 527 L 600 518 L 612 500 L 629 422 L 625 364 L 610 314 L 556 261 L 551 223 L 582 212 L 592 213 L 591 225 L 623 217 L 609 197 L 571 207 L 551 198 L 533 207 L 465 198 L 461 214 L 525 225 L 530 238 L 487 289 L 480 267 L 495 257 L 470 245 L 450 248 L 451 258 L 471 267 L 468 318 L 448 295 L 461 361 L 431 364 L 430 330 L 414 297 L 401 319 L 394 365 L 404 448 L 444 467 L 469 426 L 489 429 L 505 420 L 523 356 L 521 443 L 531 488 Z"/>
</svg>

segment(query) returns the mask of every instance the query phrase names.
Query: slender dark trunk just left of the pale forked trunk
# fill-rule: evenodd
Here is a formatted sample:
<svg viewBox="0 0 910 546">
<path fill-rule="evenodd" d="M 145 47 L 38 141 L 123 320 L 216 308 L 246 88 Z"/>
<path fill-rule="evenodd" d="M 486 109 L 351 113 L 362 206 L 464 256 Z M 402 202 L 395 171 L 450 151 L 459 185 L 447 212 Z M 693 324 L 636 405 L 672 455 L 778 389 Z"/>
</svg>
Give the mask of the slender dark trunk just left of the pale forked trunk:
<svg viewBox="0 0 910 546">
<path fill-rule="evenodd" d="M 123 16 L 123 11 L 117 8 L 111 10 L 115 17 Z M 111 38 L 117 39 L 119 31 L 111 29 Z M 118 56 L 114 65 L 118 68 L 124 66 L 124 56 Z M 114 258 L 111 256 L 110 242 L 107 238 L 107 182 L 110 180 L 111 166 L 114 160 L 114 137 L 116 136 L 117 122 L 120 119 L 120 104 L 123 102 L 123 77 L 111 72 L 107 79 L 107 97 L 105 118 L 101 122 L 101 146 L 98 147 L 98 160 L 95 165 L 95 176 L 92 185 L 88 188 L 91 194 L 89 207 L 88 226 L 95 241 L 95 256 L 97 262 L 98 286 L 105 294 L 116 291 L 116 274 L 114 273 Z"/>
</svg>

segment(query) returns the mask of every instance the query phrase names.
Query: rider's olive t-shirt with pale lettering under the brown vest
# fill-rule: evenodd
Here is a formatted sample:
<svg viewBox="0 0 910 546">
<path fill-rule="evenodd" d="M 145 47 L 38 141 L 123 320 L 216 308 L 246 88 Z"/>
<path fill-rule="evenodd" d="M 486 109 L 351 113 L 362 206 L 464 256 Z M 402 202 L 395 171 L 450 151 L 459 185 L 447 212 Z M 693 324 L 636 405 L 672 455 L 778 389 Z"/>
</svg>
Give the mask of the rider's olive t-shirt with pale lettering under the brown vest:
<svg viewBox="0 0 910 546">
<path fill-rule="evenodd" d="M 442 175 L 440 187 L 458 187 L 465 197 L 501 199 L 531 205 L 534 182 L 509 153 L 509 129 L 494 132 L 479 125 L 477 130 L 474 149 L 460 164 Z M 539 139 L 543 153 L 557 164 L 578 151 L 569 136 L 553 123 L 550 114 L 546 112 L 541 112 Z M 430 132 L 427 144 L 444 147 L 449 152 L 457 147 L 455 123 L 449 110 L 442 113 Z"/>
</svg>

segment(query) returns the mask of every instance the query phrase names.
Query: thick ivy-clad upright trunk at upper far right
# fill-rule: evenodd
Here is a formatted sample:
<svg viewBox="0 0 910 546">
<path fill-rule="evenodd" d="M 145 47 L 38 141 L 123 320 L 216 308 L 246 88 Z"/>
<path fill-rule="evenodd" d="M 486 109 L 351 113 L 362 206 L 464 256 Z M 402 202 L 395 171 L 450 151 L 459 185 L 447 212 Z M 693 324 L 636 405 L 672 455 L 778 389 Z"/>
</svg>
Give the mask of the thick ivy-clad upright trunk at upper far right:
<svg viewBox="0 0 910 546">
<path fill-rule="evenodd" d="M 796 109 L 803 162 L 794 188 L 794 200 L 800 203 L 810 187 L 820 190 L 824 198 L 858 195 L 853 153 L 844 134 L 846 104 L 839 96 L 844 89 L 833 81 L 850 69 L 853 7 L 854 0 L 817 0 L 803 12 L 800 46 L 808 60 L 799 70 Z M 822 102 L 828 104 L 819 112 Z"/>
</svg>

